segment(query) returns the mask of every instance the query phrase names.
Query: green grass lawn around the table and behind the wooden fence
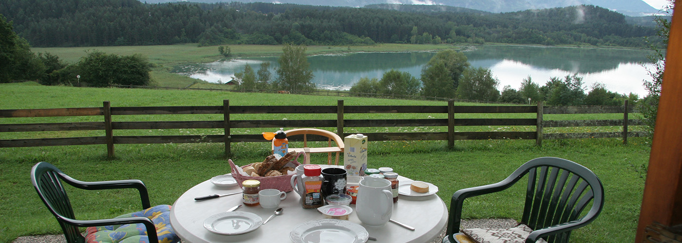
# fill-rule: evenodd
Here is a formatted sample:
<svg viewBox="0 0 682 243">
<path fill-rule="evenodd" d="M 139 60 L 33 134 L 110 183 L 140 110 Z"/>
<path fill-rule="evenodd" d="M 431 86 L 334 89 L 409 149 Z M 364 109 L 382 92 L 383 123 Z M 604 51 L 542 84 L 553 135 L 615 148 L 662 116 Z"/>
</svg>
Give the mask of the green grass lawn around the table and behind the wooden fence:
<svg viewBox="0 0 682 243">
<path fill-rule="evenodd" d="M 211 91 L 160 91 L 130 88 L 74 88 L 40 86 L 31 83 L 0 84 L 0 109 L 100 107 L 102 101 L 112 106 L 220 106 L 230 99 L 231 106 L 327 105 L 336 106 L 340 97 L 303 95 L 250 94 Z M 406 101 L 343 97 L 353 105 L 420 105 L 444 106 L 444 101 Z M 471 105 L 458 103 L 458 105 Z M 361 118 L 361 114 L 348 114 Z M 396 118 L 394 114 L 376 114 L 376 118 Z M 413 114 L 411 116 L 442 116 Z M 244 115 L 246 117 L 246 115 Z M 274 115 L 273 115 L 274 116 Z M 279 116 L 279 115 L 278 115 Z M 288 119 L 311 118 L 306 114 L 286 114 Z M 313 118 L 325 118 L 326 115 Z M 467 114 L 471 116 L 471 114 Z M 531 114 L 515 114 L 531 116 Z M 213 119 L 216 116 L 192 120 Z M 185 116 L 167 115 L 136 118 L 137 120 L 182 120 Z M 273 117 L 280 118 L 280 117 Z M 336 118 L 332 115 L 331 118 Z M 372 118 L 375 118 L 374 116 Z M 413 118 L 413 117 L 406 117 Z M 570 118 L 570 117 L 568 117 Z M 25 123 L 19 118 L 0 118 L 0 123 Z M 24 118 L 21 118 L 24 119 Z M 26 118 L 31 123 L 100 121 L 101 117 Z M 125 117 L 115 117 L 125 120 Z M 559 119 L 559 118 L 557 118 Z M 383 128 L 374 128 L 383 131 Z M 442 129 L 440 127 L 400 129 Z M 472 127 L 469 129 L 499 129 Z M 507 129 L 527 129 L 509 127 Z M 122 131 L 123 132 L 123 131 Z M 132 132 L 132 131 L 131 131 Z M 149 135 L 162 133 L 206 134 L 216 131 L 182 129 L 182 131 L 141 131 Z M 219 131 L 218 131 L 219 132 Z M 238 131 L 254 133 L 254 131 Z M 354 131 L 347 131 L 354 132 Z M 63 132 L 55 137 L 93 135 L 100 131 Z M 140 133 L 140 131 L 136 131 Z M 0 139 L 31 136 L 0 133 Z M 38 133 L 35 133 L 38 134 Z M 125 133 L 123 133 L 125 134 Z M 94 134 L 98 135 L 98 134 Z M 115 135 L 121 135 L 115 133 Z M 36 135 L 38 136 L 38 135 Z M 532 140 L 457 141 L 454 149 L 446 142 L 371 142 L 370 167 L 393 167 L 402 176 L 436 184 L 439 197 L 449 205 L 458 189 L 503 180 L 522 163 L 536 157 L 561 157 L 592 169 L 604 183 L 606 203 L 596 221 L 572 233 L 572 242 L 632 242 L 644 189 L 640 166 L 649 161 L 650 144 L 642 138 L 630 138 L 623 145 L 619 139 L 545 140 L 542 147 Z M 233 159 L 238 165 L 262 161 L 269 151 L 267 143 L 233 144 Z M 36 195 L 29 180 L 30 169 L 39 161 L 57 165 L 73 178 L 85 181 L 139 179 L 149 189 L 152 204 L 173 204 L 190 187 L 212 176 L 229 172 L 223 155 L 223 144 L 119 144 L 115 159 L 106 159 L 106 146 L 53 146 L 35 148 L 0 148 L 0 242 L 12 242 L 18 236 L 61 233 L 55 218 Z M 317 155 L 316 155 L 317 156 Z M 313 157 L 313 163 L 325 161 L 325 155 Z M 523 182 L 523 180 L 522 180 Z M 464 218 L 520 218 L 524 201 L 524 183 L 502 193 L 467 199 Z M 89 192 L 69 189 L 79 219 L 108 218 L 138 210 L 139 199 L 132 190 Z"/>
</svg>

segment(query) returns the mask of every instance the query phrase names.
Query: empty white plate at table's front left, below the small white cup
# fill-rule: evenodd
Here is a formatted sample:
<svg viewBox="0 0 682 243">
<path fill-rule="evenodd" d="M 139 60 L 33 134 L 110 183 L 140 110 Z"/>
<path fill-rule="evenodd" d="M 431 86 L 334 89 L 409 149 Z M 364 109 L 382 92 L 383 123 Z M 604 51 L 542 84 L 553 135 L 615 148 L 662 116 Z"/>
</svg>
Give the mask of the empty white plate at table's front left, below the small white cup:
<svg viewBox="0 0 682 243">
<path fill-rule="evenodd" d="M 250 212 L 221 212 L 213 214 L 204 221 L 204 227 L 221 235 L 239 235 L 258 229 L 263 218 Z"/>
</svg>

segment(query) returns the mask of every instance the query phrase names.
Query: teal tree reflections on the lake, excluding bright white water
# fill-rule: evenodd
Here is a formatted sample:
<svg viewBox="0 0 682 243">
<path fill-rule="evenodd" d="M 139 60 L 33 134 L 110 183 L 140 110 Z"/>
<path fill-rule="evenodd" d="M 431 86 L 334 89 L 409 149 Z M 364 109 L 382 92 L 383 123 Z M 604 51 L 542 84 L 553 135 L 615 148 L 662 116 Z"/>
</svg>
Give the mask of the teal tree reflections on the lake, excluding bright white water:
<svg viewBox="0 0 682 243">
<path fill-rule="evenodd" d="M 368 52 L 339 55 L 316 55 L 308 56 L 310 68 L 316 74 L 315 82 L 333 84 L 340 82 L 346 84 L 349 79 L 357 77 L 353 74 L 374 74 L 378 70 L 401 69 L 419 76 L 421 66 L 425 65 L 436 52 Z M 606 48 L 560 48 L 542 46 L 478 46 L 476 50 L 464 52 L 469 62 L 474 67 L 490 68 L 503 60 L 516 61 L 525 65 L 531 65 L 539 69 L 561 69 L 571 73 L 587 74 L 598 73 L 617 69 L 620 63 L 646 63 L 646 55 L 649 50 L 632 49 L 606 49 Z M 250 65 L 260 61 L 270 62 L 271 71 L 276 70 L 278 56 L 250 57 Z M 242 60 L 244 61 L 244 60 Z M 245 63 L 198 64 L 190 69 L 213 69 L 220 73 L 233 73 L 243 71 Z M 183 67 L 186 67 L 185 65 Z M 193 65 L 192 65 L 193 66 Z M 210 67 L 209 67 L 210 66 Z M 413 70 L 416 69 L 416 70 Z M 188 72 L 187 70 L 175 69 L 176 72 Z M 340 81 L 332 76 L 343 73 L 346 77 Z M 324 81 L 321 81 L 324 79 Z"/>
</svg>

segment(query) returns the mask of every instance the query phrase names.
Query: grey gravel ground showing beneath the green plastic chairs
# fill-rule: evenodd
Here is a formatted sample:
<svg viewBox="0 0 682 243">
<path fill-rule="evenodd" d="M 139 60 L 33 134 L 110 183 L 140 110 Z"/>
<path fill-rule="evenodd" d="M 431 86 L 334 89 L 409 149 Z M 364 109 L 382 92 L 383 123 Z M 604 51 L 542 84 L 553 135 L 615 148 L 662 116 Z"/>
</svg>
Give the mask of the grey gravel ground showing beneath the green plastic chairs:
<svg viewBox="0 0 682 243">
<path fill-rule="evenodd" d="M 516 226 L 516 221 L 511 218 L 484 218 L 462 220 L 462 228 L 509 228 Z M 445 231 L 431 243 L 440 243 L 445 237 Z M 66 243 L 64 235 L 22 236 L 12 243 Z"/>
</svg>

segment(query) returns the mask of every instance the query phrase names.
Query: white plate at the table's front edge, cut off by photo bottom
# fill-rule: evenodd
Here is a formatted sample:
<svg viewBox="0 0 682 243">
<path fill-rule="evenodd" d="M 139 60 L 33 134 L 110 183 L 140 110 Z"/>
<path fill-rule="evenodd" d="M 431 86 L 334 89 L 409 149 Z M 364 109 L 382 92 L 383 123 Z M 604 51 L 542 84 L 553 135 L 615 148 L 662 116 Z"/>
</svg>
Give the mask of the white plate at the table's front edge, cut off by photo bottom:
<svg viewBox="0 0 682 243">
<path fill-rule="evenodd" d="M 362 225 L 339 219 L 308 221 L 289 233 L 295 243 L 364 243 L 369 237 Z"/>
</svg>

